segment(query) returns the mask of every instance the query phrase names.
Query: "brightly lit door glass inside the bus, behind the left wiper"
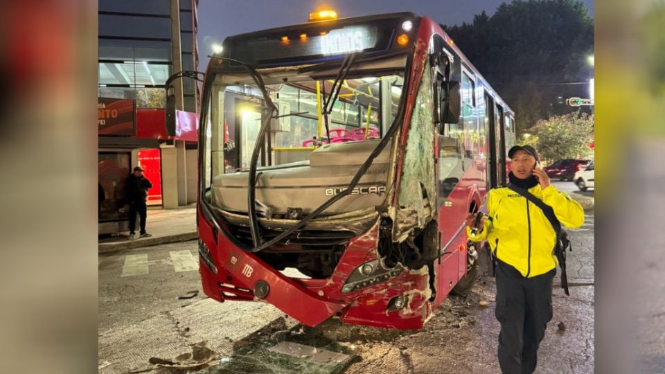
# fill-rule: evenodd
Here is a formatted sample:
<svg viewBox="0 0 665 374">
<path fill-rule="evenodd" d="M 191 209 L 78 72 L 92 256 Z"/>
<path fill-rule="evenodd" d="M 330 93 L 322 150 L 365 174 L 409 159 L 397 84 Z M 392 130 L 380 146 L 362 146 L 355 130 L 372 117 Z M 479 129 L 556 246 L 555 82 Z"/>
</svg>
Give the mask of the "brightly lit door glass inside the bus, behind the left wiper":
<svg viewBox="0 0 665 374">
<path fill-rule="evenodd" d="M 238 137 L 238 152 L 240 154 L 240 165 L 238 166 L 242 169 L 249 169 L 251 154 L 254 152 L 254 144 L 256 144 L 256 136 L 258 136 L 261 128 L 263 115 L 262 108 L 257 103 L 236 100 L 236 123 L 238 124 L 236 136 Z M 263 143 L 257 166 L 267 165 L 266 144 L 269 144 L 269 141 Z"/>
</svg>

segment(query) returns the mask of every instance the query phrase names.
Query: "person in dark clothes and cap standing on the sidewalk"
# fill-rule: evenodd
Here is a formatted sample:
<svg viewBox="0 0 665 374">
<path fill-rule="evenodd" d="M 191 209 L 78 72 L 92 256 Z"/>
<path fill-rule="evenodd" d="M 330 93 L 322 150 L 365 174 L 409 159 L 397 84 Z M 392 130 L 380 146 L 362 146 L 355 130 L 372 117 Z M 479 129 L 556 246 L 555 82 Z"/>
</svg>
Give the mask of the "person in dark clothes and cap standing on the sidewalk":
<svg viewBox="0 0 665 374">
<path fill-rule="evenodd" d="M 136 213 L 139 214 L 139 234 L 141 238 L 152 235 L 145 232 L 145 220 L 148 215 L 148 189 L 152 183 L 143 175 L 143 169 L 136 166 L 125 182 L 125 202 L 130 205 L 130 239 L 136 239 Z"/>
</svg>

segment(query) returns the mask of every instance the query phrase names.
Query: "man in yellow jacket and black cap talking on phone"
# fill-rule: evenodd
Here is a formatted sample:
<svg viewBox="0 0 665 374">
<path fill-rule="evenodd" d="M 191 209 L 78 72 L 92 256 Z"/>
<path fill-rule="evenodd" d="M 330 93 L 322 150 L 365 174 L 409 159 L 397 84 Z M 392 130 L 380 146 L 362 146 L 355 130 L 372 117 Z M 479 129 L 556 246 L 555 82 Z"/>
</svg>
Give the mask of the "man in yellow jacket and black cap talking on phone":
<svg viewBox="0 0 665 374">
<path fill-rule="evenodd" d="M 511 184 L 551 206 L 562 226 L 582 226 L 582 206 L 549 184 L 547 174 L 538 168 L 538 152 L 533 147 L 515 145 L 508 157 Z M 556 232 L 538 206 L 510 188 L 490 190 L 487 209 L 488 219 L 481 219 L 475 234 L 471 231 L 475 215 L 467 217 L 467 235 L 473 242 L 488 240 L 498 262 L 499 366 L 506 374 L 533 373 L 538 346 L 552 319 Z"/>
</svg>

